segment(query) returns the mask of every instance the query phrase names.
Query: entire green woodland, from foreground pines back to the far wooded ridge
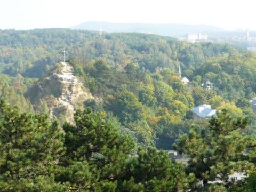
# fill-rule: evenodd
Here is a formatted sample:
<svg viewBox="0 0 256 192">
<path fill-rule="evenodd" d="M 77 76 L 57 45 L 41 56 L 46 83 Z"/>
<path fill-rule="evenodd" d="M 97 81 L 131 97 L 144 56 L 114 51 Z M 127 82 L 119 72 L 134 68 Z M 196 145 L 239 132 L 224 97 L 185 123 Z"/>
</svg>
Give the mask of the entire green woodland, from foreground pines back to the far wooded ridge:
<svg viewBox="0 0 256 192">
<path fill-rule="evenodd" d="M 33 102 L 63 50 L 95 98 L 79 103 L 74 123 Z M 0 72 L 1 191 L 253 191 L 254 53 L 139 33 L 0 30 Z M 217 116 L 194 120 L 201 104 Z M 234 171 L 250 176 L 230 182 Z"/>
</svg>

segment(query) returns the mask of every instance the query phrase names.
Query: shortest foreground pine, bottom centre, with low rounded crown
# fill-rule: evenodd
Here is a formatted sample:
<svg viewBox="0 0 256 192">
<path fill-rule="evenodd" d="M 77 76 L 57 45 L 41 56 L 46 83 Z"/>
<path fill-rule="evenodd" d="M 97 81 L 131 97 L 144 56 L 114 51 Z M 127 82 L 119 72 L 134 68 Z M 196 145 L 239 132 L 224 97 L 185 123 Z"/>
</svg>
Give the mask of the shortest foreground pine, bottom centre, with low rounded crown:
<svg viewBox="0 0 256 192">
<path fill-rule="evenodd" d="M 153 147 L 139 149 L 138 157 L 130 160 L 127 169 L 125 187 L 130 183 L 130 187 L 143 188 L 135 191 L 185 191 L 196 181 L 194 174 L 185 174 L 185 166 Z"/>
</svg>

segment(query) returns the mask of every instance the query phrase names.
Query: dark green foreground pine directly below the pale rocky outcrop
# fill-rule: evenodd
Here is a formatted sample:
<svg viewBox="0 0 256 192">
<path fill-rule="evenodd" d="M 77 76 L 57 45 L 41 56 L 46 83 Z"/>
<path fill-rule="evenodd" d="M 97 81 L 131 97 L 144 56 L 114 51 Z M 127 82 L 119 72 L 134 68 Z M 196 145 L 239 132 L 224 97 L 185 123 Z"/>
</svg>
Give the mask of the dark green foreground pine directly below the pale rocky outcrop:
<svg viewBox="0 0 256 192">
<path fill-rule="evenodd" d="M 102 111 L 93 113 L 88 108 L 77 111 L 74 118 L 75 125 L 63 126 L 67 153 L 59 180 L 78 190 L 114 190 L 135 143 L 121 135 Z"/>
</svg>

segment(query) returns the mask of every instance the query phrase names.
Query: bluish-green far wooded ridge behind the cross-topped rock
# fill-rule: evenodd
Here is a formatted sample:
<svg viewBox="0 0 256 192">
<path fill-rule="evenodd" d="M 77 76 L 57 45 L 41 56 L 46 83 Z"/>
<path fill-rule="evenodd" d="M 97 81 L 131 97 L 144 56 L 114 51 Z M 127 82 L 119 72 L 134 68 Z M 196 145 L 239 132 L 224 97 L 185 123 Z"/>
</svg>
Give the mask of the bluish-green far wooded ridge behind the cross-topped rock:
<svg viewBox="0 0 256 192">
<path fill-rule="evenodd" d="M 61 60 L 63 49 L 69 57 L 90 62 L 102 58 L 110 66 L 137 62 L 155 71 L 156 67 L 195 69 L 207 59 L 243 53 L 228 44 L 190 44 L 171 37 L 136 33 L 114 33 L 99 36 L 97 32 L 70 29 L 0 30 L 0 66 L 5 74 L 42 77 Z"/>
</svg>

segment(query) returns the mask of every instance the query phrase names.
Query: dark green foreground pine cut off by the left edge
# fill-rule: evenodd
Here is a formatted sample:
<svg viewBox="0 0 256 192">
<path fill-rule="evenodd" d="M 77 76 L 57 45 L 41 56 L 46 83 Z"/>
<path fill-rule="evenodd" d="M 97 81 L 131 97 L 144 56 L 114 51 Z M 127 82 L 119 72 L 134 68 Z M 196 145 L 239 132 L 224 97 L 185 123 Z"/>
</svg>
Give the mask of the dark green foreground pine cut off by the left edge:
<svg viewBox="0 0 256 192">
<path fill-rule="evenodd" d="M 57 121 L 50 122 L 46 115 L 20 114 L 18 108 L 1 100 L 1 191 L 56 189 L 59 183 L 54 183 L 54 167 L 64 151 Z"/>
</svg>

